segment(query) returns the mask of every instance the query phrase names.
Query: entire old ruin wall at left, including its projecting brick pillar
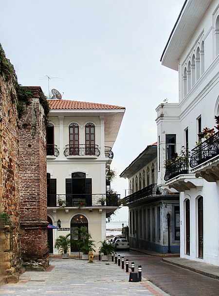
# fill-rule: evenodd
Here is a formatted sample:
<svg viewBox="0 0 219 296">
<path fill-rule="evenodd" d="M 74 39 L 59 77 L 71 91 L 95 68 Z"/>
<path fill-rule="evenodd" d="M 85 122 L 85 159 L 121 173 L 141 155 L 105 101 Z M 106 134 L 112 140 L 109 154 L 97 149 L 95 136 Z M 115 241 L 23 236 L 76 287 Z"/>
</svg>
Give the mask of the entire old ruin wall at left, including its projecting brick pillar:
<svg viewBox="0 0 219 296">
<path fill-rule="evenodd" d="M 40 87 L 22 89 L 33 94 L 28 102 L 19 101 L 0 46 L 0 282 L 17 282 L 22 266 L 44 270 L 49 262 L 45 98 Z"/>
</svg>

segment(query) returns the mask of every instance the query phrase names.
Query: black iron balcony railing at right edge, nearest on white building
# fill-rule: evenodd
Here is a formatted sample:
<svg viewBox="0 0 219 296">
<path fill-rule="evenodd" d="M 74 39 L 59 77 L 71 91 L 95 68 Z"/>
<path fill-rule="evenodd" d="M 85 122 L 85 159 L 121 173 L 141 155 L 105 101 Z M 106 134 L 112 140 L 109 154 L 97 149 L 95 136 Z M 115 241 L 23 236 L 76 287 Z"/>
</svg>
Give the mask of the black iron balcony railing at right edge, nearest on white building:
<svg viewBox="0 0 219 296">
<path fill-rule="evenodd" d="M 219 131 L 191 150 L 189 165 L 195 167 L 219 155 Z"/>
</svg>

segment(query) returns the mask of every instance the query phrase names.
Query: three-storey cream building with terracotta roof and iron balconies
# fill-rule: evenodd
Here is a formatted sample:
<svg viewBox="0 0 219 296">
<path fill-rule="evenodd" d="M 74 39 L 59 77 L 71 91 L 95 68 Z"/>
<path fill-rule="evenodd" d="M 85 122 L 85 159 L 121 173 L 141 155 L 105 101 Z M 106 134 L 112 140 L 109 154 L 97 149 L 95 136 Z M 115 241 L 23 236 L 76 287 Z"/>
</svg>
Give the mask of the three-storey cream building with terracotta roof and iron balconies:
<svg viewBox="0 0 219 296">
<path fill-rule="evenodd" d="M 106 239 L 106 217 L 120 199 L 110 195 L 107 174 L 125 107 L 62 99 L 49 100 L 49 106 L 48 221 L 61 226 L 48 237 L 50 252 L 57 254 L 56 237 L 76 227 L 87 226 L 96 242 Z"/>
</svg>

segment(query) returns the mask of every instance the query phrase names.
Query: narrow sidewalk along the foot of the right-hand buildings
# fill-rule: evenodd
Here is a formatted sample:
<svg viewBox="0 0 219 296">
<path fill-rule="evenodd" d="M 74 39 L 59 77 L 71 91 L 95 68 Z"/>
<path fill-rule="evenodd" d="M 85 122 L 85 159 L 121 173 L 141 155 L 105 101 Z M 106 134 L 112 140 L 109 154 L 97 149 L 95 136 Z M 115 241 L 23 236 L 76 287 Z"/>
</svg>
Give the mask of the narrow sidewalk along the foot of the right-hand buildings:
<svg viewBox="0 0 219 296">
<path fill-rule="evenodd" d="M 151 256 L 162 256 L 164 257 L 162 260 L 166 263 L 189 269 L 206 277 L 219 279 L 219 266 L 207 264 L 201 261 L 180 258 L 179 254 L 161 254 L 149 250 L 141 250 L 136 248 L 132 248 L 132 250 Z"/>
</svg>

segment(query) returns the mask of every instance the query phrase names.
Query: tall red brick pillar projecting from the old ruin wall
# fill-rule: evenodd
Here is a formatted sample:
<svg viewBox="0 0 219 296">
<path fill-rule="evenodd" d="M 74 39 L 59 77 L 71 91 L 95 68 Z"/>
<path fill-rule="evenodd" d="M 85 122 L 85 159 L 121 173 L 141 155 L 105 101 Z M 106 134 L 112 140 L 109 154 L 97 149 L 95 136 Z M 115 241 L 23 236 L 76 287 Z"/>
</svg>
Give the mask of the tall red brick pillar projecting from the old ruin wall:
<svg viewBox="0 0 219 296">
<path fill-rule="evenodd" d="M 40 87 L 25 87 L 33 93 L 19 120 L 20 157 L 20 251 L 27 269 L 48 266 L 46 129 L 39 103 Z M 35 262 L 33 262 L 35 261 Z M 34 263 L 34 264 L 33 264 Z M 37 263 L 37 264 L 36 264 Z"/>
</svg>

